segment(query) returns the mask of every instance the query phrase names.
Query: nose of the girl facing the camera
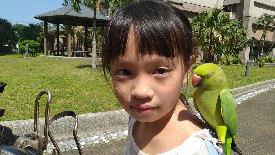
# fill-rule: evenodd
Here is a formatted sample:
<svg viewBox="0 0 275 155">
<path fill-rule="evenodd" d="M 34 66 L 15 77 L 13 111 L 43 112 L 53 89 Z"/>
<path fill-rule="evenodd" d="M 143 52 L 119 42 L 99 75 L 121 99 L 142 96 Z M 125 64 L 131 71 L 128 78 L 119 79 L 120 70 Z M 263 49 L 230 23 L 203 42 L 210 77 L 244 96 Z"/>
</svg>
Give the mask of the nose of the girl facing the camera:
<svg viewBox="0 0 275 155">
<path fill-rule="evenodd" d="M 152 89 L 152 81 L 145 78 L 137 78 L 134 80 L 133 89 L 131 91 L 132 97 L 136 98 L 152 98 L 154 96 L 154 91 Z"/>
</svg>

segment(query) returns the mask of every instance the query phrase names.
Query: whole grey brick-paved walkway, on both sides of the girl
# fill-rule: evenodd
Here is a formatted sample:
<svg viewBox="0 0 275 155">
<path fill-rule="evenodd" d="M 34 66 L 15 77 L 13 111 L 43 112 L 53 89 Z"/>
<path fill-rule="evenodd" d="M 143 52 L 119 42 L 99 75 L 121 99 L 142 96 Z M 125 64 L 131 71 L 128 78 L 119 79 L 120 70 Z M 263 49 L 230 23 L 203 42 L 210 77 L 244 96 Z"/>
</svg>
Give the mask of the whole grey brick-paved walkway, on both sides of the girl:
<svg viewBox="0 0 275 155">
<path fill-rule="evenodd" d="M 237 145 L 243 155 L 275 155 L 275 89 L 237 105 Z M 82 148 L 84 155 L 120 155 L 127 139 Z M 233 152 L 233 151 L 232 151 Z M 78 155 L 77 150 L 62 152 Z M 236 154 L 236 153 L 231 153 Z"/>
</svg>

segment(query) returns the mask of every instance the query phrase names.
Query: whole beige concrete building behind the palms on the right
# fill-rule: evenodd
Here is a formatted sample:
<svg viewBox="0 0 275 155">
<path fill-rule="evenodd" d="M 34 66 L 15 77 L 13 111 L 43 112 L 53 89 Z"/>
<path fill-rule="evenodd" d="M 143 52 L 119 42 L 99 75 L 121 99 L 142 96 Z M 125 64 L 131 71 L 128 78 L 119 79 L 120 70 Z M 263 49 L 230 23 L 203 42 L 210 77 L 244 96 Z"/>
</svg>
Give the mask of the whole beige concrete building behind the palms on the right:
<svg viewBox="0 0 275 155">
<path fill-rule="evenodd" d="M 214 6 L 223 6 L 224 11 L 228 13 L 232 19 L 241 19 L 244 22 L 244 26 L 249 30 L 249 37 L 253 37 L 253 29 L 256 28 L 256 21 L 263 13 L 268 13 L 275 15 L 275 0 L 170 0 L 171 3 L 177 8 L 183 10 L 186 16 L 191 20 L 198 13 L 201 13 L 204 10 L 210 10 Z M 260 43 L 263 30 L 261 27 L 255 33 L 254 44 L 256 46 L 247 48 L 243 51 L 240 51 L 238 57 L 247 62 L 247 60 L 252 60 L 253 62 L 258 59 L 258 53 L 261 53 L 263 39 Z M 275 31 L 272 29 L 267 33 L 263 57 L 271 56 L 275 57 Z M 252 44 L 250 41 L 248 44 Z M 268 53 L 270 49 L 270 52 Z M 252 54 L 251 54 L 252 53 Z M 252 57 L 252 58 L 251 58 Z"/>
</svg>

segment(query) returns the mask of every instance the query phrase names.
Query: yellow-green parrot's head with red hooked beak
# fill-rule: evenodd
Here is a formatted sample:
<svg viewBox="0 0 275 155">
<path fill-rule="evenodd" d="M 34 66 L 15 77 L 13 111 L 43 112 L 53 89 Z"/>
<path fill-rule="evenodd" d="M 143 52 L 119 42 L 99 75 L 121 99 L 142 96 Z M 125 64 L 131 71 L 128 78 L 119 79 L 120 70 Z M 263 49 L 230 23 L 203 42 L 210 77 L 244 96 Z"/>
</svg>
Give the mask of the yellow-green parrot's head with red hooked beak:
<svg viewBox="0 0 275 155">
<path fill-rule="evenodd" d="M 194 88 L 202 87 L 204 89 L 214 90 L 220 88 L 223 84 L 227 85 L 225 74 L 223 73 L 223 69 L 216 64 L 202 64 L 194 70 L 192 78 Z"/>
</svg>

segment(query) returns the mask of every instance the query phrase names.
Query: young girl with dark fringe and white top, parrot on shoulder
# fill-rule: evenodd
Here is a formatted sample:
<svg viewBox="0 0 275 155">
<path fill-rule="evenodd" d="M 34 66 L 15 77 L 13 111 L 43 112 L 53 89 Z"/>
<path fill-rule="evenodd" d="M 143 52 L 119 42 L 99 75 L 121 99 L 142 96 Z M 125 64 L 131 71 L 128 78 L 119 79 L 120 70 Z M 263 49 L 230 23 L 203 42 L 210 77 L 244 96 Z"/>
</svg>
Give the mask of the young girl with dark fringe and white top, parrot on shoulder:
<svg viewBox="0 0 275 155">
<path fill-rule="evenodd" d="M 131 116 L 125 154 L 218 154 L 196 137 L 212 133 L 191 117 L 181 93 L 193 54 L 190 22 L 179 9 L 145 0 L 116 10 L 103 35 L 102 63 Z"/>
</svg>

